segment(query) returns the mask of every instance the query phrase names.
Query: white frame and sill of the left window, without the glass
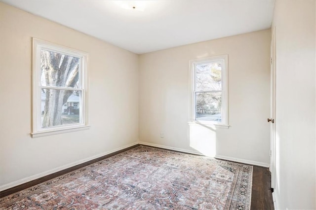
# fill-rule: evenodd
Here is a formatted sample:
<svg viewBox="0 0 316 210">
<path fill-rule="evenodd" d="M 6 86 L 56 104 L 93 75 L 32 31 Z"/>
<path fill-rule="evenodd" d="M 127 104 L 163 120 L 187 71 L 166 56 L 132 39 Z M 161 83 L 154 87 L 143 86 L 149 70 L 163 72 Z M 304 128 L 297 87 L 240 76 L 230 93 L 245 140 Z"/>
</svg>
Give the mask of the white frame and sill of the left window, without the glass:
<svg viewBox="0 0 316 210">
<path fill-rule="evenodd" d="M 40 81 L 40 51 L 41 49 L 49 50 L 65 55 L 70 55 L 79 58 L 79 84 L 80 87 L 75 88 L 67 88 L 67 87 L 50 87 L 50 86 L 42 86 Z M 33 48 L 32 48 L 32 96 L 33 96 L 33 104 L 32 104 L 32 133 L 31 136 L 42 137 L 49 136 L 54 134 L 61 134 L 67 132 L 74 132 L 79 130 L 89 129 L 88 125 L 88 73 L 87 73 L 87 62 L 88 62 L 88 54 L 76 49 L 71 49 L 65 46 L 61 46 L 58 44 L 54 44 L 48 41 L 40 40 L 37 38 L 33 38 Z M 61 90 L 79 90 L 81 91 L 81 101 L 79 103 L 79 112 L 80 112 L 80 122 L 76 124 L 70 125 L 60 125 L 42 128 L 41 125 L 41 89 L 61 89 Z"/>
</svg>

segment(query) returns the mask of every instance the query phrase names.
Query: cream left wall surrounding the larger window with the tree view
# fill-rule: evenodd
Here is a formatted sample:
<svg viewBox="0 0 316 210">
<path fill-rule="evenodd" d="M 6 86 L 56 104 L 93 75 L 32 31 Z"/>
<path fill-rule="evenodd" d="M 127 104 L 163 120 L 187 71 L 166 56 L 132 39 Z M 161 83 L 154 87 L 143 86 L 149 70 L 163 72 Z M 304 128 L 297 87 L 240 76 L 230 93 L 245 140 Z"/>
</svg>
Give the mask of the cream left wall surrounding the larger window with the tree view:
<svg viewBox="0 0 316 210">
<path fill-rule="evenodd" d="M 89 54 L 90 130 L 30 137 L 32 37 Z M 138 140 L 138 55 L 0 3 L 0 190 Z"/>
</svg>

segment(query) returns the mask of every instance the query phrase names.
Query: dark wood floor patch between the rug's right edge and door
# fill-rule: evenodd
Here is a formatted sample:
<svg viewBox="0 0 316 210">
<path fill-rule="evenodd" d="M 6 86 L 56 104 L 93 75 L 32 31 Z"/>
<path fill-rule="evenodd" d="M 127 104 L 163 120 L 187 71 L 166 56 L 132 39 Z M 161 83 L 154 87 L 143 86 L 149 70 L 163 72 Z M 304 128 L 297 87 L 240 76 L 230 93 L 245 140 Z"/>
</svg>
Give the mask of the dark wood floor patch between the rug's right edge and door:
<svg viewBox="0 0 316 210">
<path fill-rule="evenodd" d="M 268 168 L 253 166 L 251 210 L 274 210 L 271 173 Z"/>
</svg>

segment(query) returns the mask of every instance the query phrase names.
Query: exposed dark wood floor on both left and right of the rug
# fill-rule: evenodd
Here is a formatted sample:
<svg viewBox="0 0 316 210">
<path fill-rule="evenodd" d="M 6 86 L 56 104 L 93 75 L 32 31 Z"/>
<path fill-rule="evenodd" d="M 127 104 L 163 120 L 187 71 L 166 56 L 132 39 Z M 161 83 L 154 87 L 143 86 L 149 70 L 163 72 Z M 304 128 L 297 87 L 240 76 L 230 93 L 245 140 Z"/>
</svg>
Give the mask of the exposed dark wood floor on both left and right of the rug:
<svg viewBox="0 0 316 210">
<path fill-rule="evenodd" d="M 134 145 L 126 149 L 122 149 L 120 151 L 114 152 L 112 154 L 105 155 L 103 157 L 88 161 L 86 163 L 79 164 L 78 166 L 71 167 L 69 169 L 65 169 L 60 172 L 56 172 L 51 175 L 46 175 L 44 177 L 41 177 L 39 179 L 27 182 L 25 184 L 21 184 L 16 187 L 12 187 L 10 189 L 4 190 L 0 192 L 0 198 L 16 193 L 20 190 L 26 189 L 28 187 L 34 186 L 36 184 L 39 184 L 41 182 L 47 181 L 49 179 L 52 179 L 54 177 L 57 177 L 59 175 L 64 175 L 69 172 L 72 172 L 74 170 L 77 170 L 79 168 L 82 168 L 84 166 L 96 163 L 100 160 L 103 160 L 105 158 L 111 157 L 113 155 L 116 155 L 120 152 L 126 151 L 128 149 L 131 149 L 133 147 L 139 146 Z M 253 166 L 253 178 L 252 178 L 252 191 L 251 191 L 251 210 L 274 210 L 273 206 L 273 199 L 272 199 L 272 192 L 271 192 L 271 174 L 269 172 L 268 168 L 259 167 L 259 166 Z"/>
</svg>

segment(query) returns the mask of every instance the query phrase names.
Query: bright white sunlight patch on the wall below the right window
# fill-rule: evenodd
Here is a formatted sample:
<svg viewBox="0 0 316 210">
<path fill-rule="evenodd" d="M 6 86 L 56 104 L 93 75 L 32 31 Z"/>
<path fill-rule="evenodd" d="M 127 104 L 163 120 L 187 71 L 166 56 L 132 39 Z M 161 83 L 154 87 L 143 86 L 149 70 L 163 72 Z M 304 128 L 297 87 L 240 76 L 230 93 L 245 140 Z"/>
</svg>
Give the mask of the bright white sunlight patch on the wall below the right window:
<svg viewBox="0 0 316 210">
<path fill-rule="evenodd" d="M 190 146 L 208 157 L 216 155 L 216 128 L 190 123 Z"/>
</svg>

